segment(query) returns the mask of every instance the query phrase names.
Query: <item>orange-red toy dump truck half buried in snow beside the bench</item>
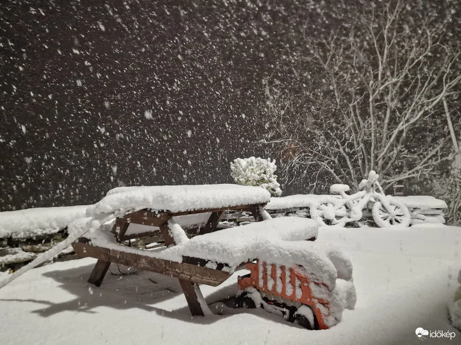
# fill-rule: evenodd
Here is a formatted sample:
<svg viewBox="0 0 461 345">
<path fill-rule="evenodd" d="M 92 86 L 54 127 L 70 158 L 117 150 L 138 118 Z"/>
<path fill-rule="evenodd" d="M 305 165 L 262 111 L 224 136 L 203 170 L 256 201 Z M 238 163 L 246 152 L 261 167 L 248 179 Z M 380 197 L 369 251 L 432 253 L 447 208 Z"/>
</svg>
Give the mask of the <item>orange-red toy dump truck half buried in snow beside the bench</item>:
<svg viewBox="0 0 461 345">
<path fill-rule="evenodd" d="M 328 329 L 330 301 L 315 296 L 331 295 L 324 283 L 311 282 L 304 267 L 267 264 L 257 260 L 247 264 L 250 274 L 238 277 L 237 307 L 264 309 L 310 330 Z"/>
</svg>

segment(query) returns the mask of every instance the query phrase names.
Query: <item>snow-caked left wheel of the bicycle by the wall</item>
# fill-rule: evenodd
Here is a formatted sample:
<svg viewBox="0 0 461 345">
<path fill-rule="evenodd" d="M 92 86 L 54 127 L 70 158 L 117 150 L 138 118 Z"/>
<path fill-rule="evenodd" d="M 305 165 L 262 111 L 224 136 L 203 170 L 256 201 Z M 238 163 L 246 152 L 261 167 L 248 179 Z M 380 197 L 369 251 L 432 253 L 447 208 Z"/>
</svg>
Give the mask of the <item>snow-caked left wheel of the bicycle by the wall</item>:
<svg viewBox="0 0 461 345">
<path fill-rule="evenodd" d="M 347 208 L 344 199 L 332 197 L 324 202 L 312 205 L 309 210 L 311 218 L 316 220 L 321 226 L 339 226 L 346 224 Z"/>
</svg>

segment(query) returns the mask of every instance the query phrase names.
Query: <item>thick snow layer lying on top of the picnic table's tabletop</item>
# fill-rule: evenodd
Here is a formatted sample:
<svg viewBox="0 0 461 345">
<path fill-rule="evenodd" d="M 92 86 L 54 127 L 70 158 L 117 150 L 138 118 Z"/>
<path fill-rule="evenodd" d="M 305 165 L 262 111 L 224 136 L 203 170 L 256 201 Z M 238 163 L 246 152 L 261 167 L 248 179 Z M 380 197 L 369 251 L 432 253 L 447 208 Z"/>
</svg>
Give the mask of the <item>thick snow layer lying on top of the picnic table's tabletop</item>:
<svg viewBox="0 0 461 345">
<path fill-rule="evenodd" d="M 88 207 L 87 216 L 126 212 L 144 208 L 187 212 L 199 209 L 266 203 L 270 193 L 261 187 L 237 184 L 162 185 L 118 187 Z"/>
</svg>

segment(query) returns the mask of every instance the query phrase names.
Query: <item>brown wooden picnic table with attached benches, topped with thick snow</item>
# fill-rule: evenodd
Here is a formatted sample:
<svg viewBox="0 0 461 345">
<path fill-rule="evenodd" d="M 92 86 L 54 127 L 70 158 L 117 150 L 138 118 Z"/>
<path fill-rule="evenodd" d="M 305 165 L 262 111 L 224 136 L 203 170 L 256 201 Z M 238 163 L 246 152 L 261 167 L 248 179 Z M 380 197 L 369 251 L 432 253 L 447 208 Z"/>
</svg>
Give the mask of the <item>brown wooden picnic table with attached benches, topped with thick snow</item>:
<svg viewBox="0 0 461 345">
<path fill-rule="evenodd" d="M 217 286 L 254 260 L 254 243 L 262 236 L 316 238 L 317 227 L 310 227 L 307 219 L 272 219 L 264 210 L 269 200 L 269 192 L 261 187 L 234 184 L 115 188 L 87 210 L 92 219 L 111 217 L 112 222 L 97 226 L 72 246 L 79 258 L 97 259 L 89 283 L 100 286 L 111 263 L 175 277 L 191 314 L 203 316 L 208 308 L 198 284 Z M 252 223 L 215 232 L 228 209 L 247 211 L 265 225 Z M 202 224 L 185 231 L 181 223 Z M 283 224 L 291 231 L 281 232 Z M 157 236 L 164 246 L 145 250 L 123 244 L 149 236 Z"/>
</svg>

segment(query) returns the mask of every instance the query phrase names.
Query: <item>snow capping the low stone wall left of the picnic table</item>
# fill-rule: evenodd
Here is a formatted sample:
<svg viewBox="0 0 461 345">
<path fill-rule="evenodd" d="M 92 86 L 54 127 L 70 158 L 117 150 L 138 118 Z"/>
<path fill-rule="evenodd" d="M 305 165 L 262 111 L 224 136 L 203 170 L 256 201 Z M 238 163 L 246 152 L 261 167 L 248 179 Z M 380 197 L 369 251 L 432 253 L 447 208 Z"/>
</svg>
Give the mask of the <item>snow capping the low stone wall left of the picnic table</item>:
<svg viewBox="0 0 461 345">
<path fill-rule="evenodd" d="M 0 212 L 0 238 L 27 238 L 55 233 L 85 216 L 87 205 L 28 208 Z"/>
</svg>

